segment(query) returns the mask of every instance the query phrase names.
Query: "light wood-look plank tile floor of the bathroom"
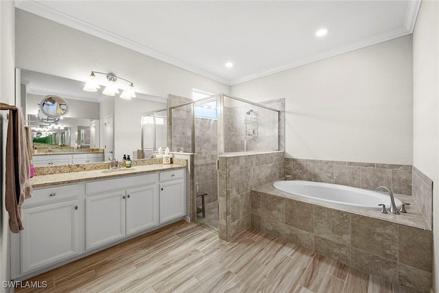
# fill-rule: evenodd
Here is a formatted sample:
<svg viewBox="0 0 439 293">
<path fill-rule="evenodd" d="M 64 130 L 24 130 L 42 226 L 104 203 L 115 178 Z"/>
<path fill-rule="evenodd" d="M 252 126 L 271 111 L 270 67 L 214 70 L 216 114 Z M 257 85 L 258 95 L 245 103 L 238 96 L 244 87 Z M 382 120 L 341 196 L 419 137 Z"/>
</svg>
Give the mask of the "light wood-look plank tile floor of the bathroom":
<svg viewBox="0 0 439 293">
<path fill-rule="evenodd" d="M 410 292 L 261 231 L 224 242 L 186 222 L 28 281 L 47 281 L 45 292 Z"/>
</svg>

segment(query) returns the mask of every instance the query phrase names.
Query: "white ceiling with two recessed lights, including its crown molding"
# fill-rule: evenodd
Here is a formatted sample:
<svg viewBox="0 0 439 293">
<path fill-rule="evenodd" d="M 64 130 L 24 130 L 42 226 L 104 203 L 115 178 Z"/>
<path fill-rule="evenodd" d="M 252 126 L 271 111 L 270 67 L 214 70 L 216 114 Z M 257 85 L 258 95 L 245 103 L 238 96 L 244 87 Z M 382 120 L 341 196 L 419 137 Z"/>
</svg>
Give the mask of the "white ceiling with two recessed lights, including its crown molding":
<svg viewBox="0 0 439 293">
<path fill-rule="evenodd" d="M 228 85 L 411 34 L 419 6 L 418 0 L 16 1 L 16 8 Z M 328 34 L 318 38 L 322 27 Z"/>
</svg>

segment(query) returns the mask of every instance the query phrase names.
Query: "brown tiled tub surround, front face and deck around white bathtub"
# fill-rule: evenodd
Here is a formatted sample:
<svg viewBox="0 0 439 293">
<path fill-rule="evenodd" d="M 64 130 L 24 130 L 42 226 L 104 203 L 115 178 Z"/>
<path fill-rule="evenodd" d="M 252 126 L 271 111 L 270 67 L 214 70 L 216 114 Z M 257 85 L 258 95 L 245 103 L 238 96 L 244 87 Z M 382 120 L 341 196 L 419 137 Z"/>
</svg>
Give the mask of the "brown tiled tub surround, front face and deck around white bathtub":
<svg viewBox="0 0 439 293">
<path fill-rule="evenodd" d="M 254 228 L 415 290 L 431 288 L 432 233 L 412 196 L 407 214 L 383 214 L 294 198 L 272 185 L 252 189 Z"/>
</svg>

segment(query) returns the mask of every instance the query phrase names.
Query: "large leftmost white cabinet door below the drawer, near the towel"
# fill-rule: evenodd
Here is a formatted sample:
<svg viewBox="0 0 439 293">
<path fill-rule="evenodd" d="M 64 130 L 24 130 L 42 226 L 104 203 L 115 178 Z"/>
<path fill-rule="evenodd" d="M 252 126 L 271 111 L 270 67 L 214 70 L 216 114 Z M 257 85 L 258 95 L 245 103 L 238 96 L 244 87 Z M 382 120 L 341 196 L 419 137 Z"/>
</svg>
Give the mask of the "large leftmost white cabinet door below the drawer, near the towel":
<svg viewBox="0 0 439 293">
<path fill-rule="evenodd" d="M 23 209 L 21 273 L 80 253 L 79 200 Z"/>
</svg>

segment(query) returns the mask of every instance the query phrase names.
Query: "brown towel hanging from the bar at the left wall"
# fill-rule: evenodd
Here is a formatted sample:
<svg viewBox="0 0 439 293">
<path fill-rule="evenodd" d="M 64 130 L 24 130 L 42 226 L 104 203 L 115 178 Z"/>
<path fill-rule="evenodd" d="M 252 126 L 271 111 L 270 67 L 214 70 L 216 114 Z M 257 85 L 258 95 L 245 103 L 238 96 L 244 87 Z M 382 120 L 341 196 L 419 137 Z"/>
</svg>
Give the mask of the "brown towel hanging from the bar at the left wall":
<svg viewBox="0 0 439 293">
<path fill-rule="evenodd" d="M 9 213 L 9 227 L 13 233 L 23 230 L 25 198 L 32 196 L 29 176 L 29 152 L 23 116 L 19 109 L 9 111 L 8 137 L 5 160 L 5 207 Z"/>
</svg>

